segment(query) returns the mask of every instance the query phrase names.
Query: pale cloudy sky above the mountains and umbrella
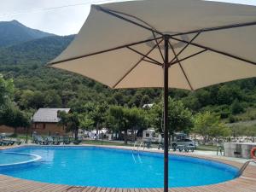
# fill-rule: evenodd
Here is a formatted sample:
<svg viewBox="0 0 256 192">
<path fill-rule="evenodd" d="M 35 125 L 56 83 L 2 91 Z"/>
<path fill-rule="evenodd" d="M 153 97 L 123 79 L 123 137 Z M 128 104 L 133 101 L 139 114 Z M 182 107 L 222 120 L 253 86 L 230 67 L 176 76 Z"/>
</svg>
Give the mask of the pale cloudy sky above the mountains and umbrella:
<svg viewBox="0 0 256 192">
<path fill-rule="evenodd" d="M 0 21 L 18 20 L 31 28 L 57 35 L 79 32 L 90 12 L 91 3 L 122 0 L 1 0 Z M 217 1 L 217 0 L 216 0 Z M 218 0 L 256 6 L 256 0 Z"/>
</svg>

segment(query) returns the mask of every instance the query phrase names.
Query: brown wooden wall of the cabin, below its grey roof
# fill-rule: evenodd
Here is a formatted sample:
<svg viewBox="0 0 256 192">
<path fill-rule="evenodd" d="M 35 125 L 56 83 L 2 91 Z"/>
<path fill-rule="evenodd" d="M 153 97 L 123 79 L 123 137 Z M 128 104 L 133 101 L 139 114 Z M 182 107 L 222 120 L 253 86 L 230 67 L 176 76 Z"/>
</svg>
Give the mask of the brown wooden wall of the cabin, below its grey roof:
<svg viewBox="0 0 256 192">
<path fill-rule="evenodd" d="M 37 131 L 42 135 L 55 135 L 56 133 L 63 135 L 66 133 L 63 126 L 57 125 L 57 123 L 33 123 L 32 132 Z"/>
</svg>

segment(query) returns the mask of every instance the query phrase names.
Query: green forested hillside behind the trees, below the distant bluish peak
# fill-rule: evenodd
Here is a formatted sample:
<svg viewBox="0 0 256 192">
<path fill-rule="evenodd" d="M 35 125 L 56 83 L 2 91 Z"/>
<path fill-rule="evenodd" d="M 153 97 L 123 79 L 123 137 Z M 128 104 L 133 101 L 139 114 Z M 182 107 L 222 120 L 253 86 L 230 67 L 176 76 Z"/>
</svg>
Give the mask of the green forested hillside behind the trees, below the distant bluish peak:
<svg viewBox="0 0 256 192">
<path fill-rule="evenodd" d="M 4 26 L 5 31 L 8 29 Z M 0 42 L 4 41 L 2 31 L 0 25 Z M 14 45 L 0 48 L 0 73 L 5 79 L 14 79 L 15 102 L 22 110 L 79 108 L 87 102 L 142 107 L 161 100 L 161 89 L 110 90 L 93 80 L 46 67 L 46 63 L 60 54 L 73 38 L 49 36 L 23 43 L 13 38 L 11 44 Z M 192 113 L 208 110 L 233 122 L 256 119 L 255 85 L 256 79 L 246 79 L 194 92 L 171 90 L 170 96 L 181 100 Z M 245 113 L 247 115 L 242 115 Z"/>
</svg>

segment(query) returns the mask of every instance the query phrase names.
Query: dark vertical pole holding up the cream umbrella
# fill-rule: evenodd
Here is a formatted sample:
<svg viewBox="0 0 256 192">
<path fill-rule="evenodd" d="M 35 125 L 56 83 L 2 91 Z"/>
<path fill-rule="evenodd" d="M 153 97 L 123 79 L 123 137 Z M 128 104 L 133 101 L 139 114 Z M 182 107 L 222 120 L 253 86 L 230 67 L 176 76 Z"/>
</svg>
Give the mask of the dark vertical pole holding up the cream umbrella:
<svg viewBox="0 0 256 192">
<path fill-rule="evenodd" d="M 169 36 L 165 35 L 164 62 L 164 192 L 168 192 L 168 69 L 169 69 Z"/>
</svg>

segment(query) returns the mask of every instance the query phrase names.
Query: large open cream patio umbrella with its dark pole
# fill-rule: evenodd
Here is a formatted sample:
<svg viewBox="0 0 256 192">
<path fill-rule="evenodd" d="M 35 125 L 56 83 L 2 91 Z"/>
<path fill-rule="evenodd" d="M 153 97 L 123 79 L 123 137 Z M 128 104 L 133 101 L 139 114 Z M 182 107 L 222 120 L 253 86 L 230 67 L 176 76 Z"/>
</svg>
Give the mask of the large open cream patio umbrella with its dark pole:
<svg viewBox="0 0 256 192">
<path fill-rule="evenodd" d="M 196 90 L 256 76 L 256 7 L 201 0 L 92 5 L 51 67 L 113 89 L 164 87 L 164 187 L 168 189 L 168 87 Z"/>
</svg>

